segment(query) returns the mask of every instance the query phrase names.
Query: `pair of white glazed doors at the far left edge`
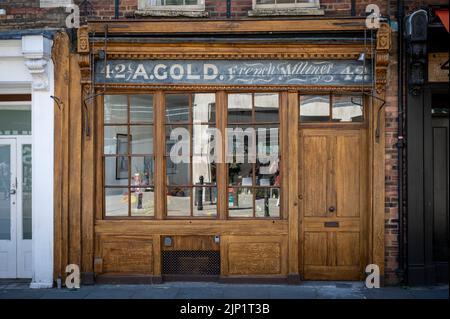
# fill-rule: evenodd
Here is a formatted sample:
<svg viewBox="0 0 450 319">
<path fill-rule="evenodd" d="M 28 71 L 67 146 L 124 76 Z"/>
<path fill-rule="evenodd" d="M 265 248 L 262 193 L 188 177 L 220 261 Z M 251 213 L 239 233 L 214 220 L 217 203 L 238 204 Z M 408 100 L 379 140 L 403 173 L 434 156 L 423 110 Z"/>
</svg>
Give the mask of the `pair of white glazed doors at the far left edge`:
<svg viewBox="0 0 450 319">
<path fill-rule="evenodd" d="M 0 138 L 0 278 L 31 278 L 31 138 Z"/>
</svg>

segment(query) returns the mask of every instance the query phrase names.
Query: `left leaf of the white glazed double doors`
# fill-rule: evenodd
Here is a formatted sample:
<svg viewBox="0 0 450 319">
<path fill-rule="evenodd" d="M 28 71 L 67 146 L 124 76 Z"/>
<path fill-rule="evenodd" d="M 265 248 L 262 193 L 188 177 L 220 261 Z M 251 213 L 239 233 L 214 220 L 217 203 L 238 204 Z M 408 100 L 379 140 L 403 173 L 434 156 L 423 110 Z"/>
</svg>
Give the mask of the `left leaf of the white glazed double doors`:
<svg viewBox="0 0 450 319">
<path fill-rule="evenodd" d="M 0 278 L 16 272 L 16 142 L 0 139 Z"/>
</svg>

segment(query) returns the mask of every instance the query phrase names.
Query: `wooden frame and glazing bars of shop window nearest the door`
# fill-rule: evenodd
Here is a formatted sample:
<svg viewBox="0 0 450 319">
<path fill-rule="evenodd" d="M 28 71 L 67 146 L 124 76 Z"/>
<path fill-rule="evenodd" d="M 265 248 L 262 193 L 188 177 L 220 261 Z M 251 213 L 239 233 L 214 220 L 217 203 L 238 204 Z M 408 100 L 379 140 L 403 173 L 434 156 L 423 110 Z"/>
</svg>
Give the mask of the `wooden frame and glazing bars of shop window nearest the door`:
<svg viewBox="0 0 450 319">
<path fill-rule="evenodd" d="M 259 94 L 259 93 L 267 93 L 267 94 L 277 94 L 278 95 L 278 121 L 276 122 L 257 122 L 255 121 L 255 94 Z M 230 94 L 251 94 L 252 95 L 252 121 L 251 122 L 239 122 L 239 123 L 229 123 L 228 122 L 228 95 Z M 225 209 L 226 209 L 226 217 L 227 219 L 230 220 L 248 220 L 248 219 L 255 219 L 255 220 L 260 220 L 260 219 L 283 219 L 283 193 L 284 191 L 282 191 L 283 188 L 283 156 L 282 156 L 282 133 L 281 133 L 281 123 L 282 123 L 282 108 L 283 108 L 283 104 L 282 104 L 282 92 L 281 91 L 268 91 L 268 92 L 260 92 L 260 91 L 255 91 L 255 90 L 250 90 L 250 91 L 227 91 L 226 92 L 226 102 L 224 104 L 225 107 L 225 111 L 224 113 L 226 114 L 226 118 L 225 118 L 225 126 L 226 128 L 229 127 L 234 127 L 236 125 L 241 125 L 242 127 L 258 127 L 259 125 L 278 125 L 278 147 L 279 147 L 279 174 L 280 174 L 280 185 L 277 187 L 267 187 L 267 186 L 258 186 L 256 185 L 256 163 L 252 163 L 252 185 L 251 186 L 233 186 L 230 185 L 230 180 L 229 180 L 229 163 L 225 163 L 225 167 L 226 167 L 226 174 L 225 174 L 225 178 L 226 178 L 226 203 L 225 205 Z M 225 135 L 223 135 L 225 136 Z M 227 140 L 227 138 L 225 137 L 225 140 Z M 226 143 L 224 143 L 226 144 Z M 256 145 L 257 147 L 257 145 Z M 230 210 L 229 210 L 229 206 L 228 206 L 228 189 L 251 189 L 252 191 L 252 216 L 249 217 L 233 217 L 230 215 Z M 273 217 L 273 216 L 264 216 L 264 217 L 257 217 L 256 216 L 256 190 L 257 189 L 278 189 L 278 196 L 280 196 L 280 206 L 279 206 L 279 214 L 277 217 Z"/>
</svg>

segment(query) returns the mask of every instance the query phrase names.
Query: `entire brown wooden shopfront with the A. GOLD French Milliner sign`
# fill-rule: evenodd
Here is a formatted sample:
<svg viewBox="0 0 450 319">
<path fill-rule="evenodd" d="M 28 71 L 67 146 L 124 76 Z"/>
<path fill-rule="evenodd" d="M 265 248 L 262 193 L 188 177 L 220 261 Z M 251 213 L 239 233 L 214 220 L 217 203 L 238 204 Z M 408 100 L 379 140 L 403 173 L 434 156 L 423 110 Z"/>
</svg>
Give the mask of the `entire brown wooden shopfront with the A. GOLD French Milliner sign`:
<svg viewBox="0 0 450 319">
<path fill-rule="evenodd" d="M 85 283 L 383 272 L 387 25 L 91 22 L 73 52 L 55 42 L 55 278 L 72 263 Z M 230 144 L 278 156 L 236 163 Z M 196 161 L 205 145 L 215 162 Z"/>
</svg>

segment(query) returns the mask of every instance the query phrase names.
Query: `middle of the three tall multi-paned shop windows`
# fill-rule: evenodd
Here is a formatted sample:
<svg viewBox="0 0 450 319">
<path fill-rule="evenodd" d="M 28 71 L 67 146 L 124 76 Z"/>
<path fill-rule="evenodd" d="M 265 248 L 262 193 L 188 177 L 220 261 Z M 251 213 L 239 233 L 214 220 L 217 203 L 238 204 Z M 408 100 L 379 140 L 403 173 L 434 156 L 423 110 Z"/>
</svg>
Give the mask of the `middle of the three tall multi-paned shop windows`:
<svg viewBox="0 0 450 319">
<path fill-rule="evenodd" d="M 216 163 L 207 158 L 216 128 L 215 94 L 165 95 L 168 217 L 216 217 Z"/>
</svg>

